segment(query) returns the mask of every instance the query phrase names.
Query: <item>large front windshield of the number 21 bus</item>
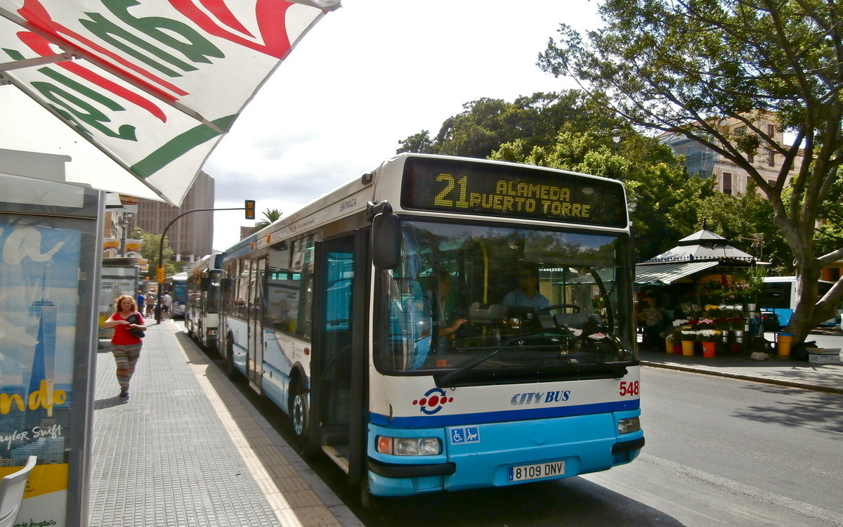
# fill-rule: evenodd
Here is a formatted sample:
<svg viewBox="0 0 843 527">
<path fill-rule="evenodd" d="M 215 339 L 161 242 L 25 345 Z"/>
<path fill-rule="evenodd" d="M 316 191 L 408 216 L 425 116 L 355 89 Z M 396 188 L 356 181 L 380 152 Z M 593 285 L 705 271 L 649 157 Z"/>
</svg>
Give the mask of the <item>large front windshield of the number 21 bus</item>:
<svg viewBox="0 0 843 527">
<path fill-rule="evenodd" d="M 380 282 L 382 371 L 521 382 L 620 377 L 636 360 L 626 236 L 422 221 L 402 233 Z"/>
</svg>

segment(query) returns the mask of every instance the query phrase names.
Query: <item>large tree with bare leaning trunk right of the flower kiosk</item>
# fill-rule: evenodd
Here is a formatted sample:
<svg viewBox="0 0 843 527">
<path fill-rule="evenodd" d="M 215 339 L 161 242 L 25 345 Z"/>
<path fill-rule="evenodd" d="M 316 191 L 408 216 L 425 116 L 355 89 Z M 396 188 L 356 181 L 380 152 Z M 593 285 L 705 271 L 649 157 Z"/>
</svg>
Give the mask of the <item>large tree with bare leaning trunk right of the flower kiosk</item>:
<svg viewBox="0 0 843 527">
<path fill-rule="evenodd" d="M 841 279 L 815 301 L 820 271 L 843 257 L 843 244 L 823 252 L 814 234 L 824 204 L 840 197 L 833 190 L 843 154 L 843 6 L 606 0 L 600 13 L 604 28 L 585 35 L 563 24 L 540 67 L 606 94 L 608 106 L 633 125 L 681 134 L 749 174 L 795 261 L 797 305 L 788 330 L 804 341 L 814 325 L 836 315 L 843 297 Z M 766 116 L 795 142 L 776 143 L 759 126 Z M 739 126 L 726 126 L 727 117 Z M 747 160 L 760 150 L 783 161 L 776 180 L 768 182 Z"/>
</svg>

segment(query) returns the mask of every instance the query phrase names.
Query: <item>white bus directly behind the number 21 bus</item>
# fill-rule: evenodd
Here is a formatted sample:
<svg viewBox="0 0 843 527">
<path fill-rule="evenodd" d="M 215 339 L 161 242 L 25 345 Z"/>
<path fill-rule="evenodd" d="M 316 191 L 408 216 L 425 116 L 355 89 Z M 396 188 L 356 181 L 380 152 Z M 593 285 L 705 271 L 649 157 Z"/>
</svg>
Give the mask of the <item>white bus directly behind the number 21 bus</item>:
<svg viewBox="0 0 843 527">
<path fill-rule="evenodd" d="M 204 256 L 187 270 L 185 331 L 202 347 L 217 349 L 223 253 Z"/>
</svg>

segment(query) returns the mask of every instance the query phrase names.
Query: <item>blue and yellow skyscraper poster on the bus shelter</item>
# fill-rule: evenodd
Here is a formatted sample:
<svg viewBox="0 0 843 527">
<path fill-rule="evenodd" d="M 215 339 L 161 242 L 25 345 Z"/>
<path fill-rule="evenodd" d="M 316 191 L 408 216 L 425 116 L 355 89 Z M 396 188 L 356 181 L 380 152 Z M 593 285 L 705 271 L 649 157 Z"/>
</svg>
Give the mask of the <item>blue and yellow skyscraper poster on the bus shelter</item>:
<svg viewBox="0 0 843 527">
<path fill-rule="evenodd" d="M 38 456 L 19 524 L 65 524 L 78 221 L 0 214 L 0 476 Z"/>
</svg>

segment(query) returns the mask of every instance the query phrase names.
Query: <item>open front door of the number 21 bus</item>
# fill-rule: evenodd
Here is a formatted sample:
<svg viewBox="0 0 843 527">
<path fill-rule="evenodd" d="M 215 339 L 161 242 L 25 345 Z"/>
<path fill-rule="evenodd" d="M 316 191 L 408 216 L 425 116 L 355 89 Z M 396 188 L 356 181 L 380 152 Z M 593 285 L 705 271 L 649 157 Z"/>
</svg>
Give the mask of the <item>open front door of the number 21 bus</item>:
<svg viewBox="0 0 843 527">
<path fill-rule="evenodd" d="M 309 437 L 358 482 L 367 413 L 366 233 L 317 242 Z"/>
</svg>

